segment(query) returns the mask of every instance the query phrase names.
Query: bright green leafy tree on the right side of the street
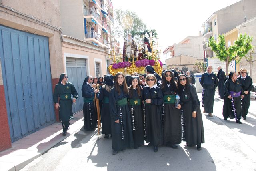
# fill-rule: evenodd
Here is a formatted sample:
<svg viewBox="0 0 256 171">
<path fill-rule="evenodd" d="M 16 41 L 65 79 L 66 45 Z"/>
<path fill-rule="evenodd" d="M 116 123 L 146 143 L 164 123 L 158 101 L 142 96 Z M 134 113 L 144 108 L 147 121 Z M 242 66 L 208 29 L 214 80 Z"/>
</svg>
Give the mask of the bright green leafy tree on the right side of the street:
<svg viewBox="0 0 256 171">
<path fill-rule="evenodd" d="M 211 37 L 209 40 L 209 46 L 212 48 L 212 51 L 215 52 L 217 58 L 221 61 L 226 62 L 226 75 L 228 75 L 228 65 L 232 60 L 236 60 L 237 63 L 252 49 L 252 37 L 247 34 L 240 34 L 237 40 L 234 42 L 234 45 L 226 47 L 224 34 L 219 35 L 219 42 L 217 43 L 214 40 L 214 37 Z"/>
</svg>

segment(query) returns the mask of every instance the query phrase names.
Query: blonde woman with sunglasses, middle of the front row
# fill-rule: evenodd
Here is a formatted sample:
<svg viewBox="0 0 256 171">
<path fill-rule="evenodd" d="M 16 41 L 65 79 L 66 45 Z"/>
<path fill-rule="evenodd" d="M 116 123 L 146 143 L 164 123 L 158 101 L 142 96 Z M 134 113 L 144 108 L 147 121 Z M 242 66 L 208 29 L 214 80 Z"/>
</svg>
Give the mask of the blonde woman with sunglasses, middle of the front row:
<svg viewBox="0 0 256 171">
<path fill-rule="evenodd" d="M 153 74 L 146 76 L 147 85 L 143 87 L 144 100 L 144 131 L 146 142 L 153 145 L 154 152 L 158 151 L 158 145 L 163 143 L 162 111 L 163 94 L 156 85 L 156 77 Z"/>
</svg>

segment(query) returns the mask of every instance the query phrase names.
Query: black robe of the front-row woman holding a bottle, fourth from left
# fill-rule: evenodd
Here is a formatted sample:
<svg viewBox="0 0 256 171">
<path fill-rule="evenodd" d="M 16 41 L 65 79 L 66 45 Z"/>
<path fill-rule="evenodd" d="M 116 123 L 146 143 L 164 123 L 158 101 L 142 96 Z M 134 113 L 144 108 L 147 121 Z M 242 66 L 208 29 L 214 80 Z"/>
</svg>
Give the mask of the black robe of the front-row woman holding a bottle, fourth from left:
<svg viewBox="0 0 256 171">
<path fill-rule="evenodd" d="M 162 89 L 162 84 L 160 84 L 163 95 L 175 95 L 177 93 L 177 88 L 166 84 L 164 89 Z M 173 145 L 181 143 L 181 109 L 175 107 L 175 102 L 173 104 L 164 103 L 163 104 L 163 129 L 164 129 L 164 144 Z"/>
</svg>

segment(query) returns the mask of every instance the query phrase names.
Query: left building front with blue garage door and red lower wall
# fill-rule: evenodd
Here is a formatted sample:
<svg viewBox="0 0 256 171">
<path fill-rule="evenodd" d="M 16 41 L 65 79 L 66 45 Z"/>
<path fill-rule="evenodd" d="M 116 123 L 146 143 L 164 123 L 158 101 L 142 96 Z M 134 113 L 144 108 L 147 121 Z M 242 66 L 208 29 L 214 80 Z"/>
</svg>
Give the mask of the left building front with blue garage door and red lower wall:
<svg viewBox="0 0 256 171">
<path fill-rule="evenodd" d="M 59 0 L 0 2 L 0 151 L 56 121 L 64 71 Z"/>
</svg>

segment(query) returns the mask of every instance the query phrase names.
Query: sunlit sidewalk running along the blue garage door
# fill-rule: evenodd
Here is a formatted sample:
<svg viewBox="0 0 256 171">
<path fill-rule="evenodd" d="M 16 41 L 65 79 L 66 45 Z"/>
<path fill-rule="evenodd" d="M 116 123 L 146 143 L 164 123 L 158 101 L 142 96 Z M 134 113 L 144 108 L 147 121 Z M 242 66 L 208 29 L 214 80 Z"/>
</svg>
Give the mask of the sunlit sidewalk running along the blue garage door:
<svg viewBox="0 0 256 171">
<path fill-rule="evenodd" d="M 66 136 L 62 135 L 62 123 L 56 122 L 15 141 L 10 149 L 0 152 L 0 171 L 22 169 L 70 134 L 81 129 L 83 125 L 83 111 L 80 111 L 70 120 L 70 129 Z"/>
</svg>

